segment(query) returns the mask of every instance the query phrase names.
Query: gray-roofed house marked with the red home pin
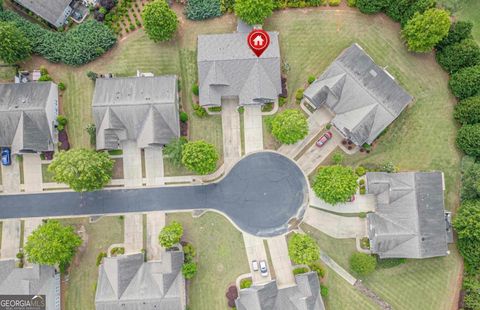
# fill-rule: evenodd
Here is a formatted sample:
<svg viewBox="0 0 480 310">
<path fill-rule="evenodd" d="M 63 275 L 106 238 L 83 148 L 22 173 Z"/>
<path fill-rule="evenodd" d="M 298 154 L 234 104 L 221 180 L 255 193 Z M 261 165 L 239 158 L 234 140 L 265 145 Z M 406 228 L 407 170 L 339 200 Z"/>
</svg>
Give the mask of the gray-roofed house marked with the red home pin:
<svg viewBox="0 0 480 310">
<path fill-rule="evenodd" d="M 239 105 L 278 101 L 282 93 L 278 33 L 268 34 L 270 45 L 261 57 L 248 47 L 245 30 L 198 36 L 200 105 L 219 107 L 222 99 L 232 98 Z"/>
</svg>

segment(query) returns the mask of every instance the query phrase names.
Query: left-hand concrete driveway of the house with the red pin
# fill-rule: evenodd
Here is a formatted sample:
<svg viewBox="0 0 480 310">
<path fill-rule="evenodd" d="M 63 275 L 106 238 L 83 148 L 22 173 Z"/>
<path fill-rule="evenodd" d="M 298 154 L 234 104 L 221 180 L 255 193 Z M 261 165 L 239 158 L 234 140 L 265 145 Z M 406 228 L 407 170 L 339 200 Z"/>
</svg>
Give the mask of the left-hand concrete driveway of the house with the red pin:
<svg viewBox="0 0 480 310">
<path fill-rule="evenodd" d="M 241 157 L 240 114 L 238 100 L 222 100 L 223 161 L 231 167 Z"/>
</svg>

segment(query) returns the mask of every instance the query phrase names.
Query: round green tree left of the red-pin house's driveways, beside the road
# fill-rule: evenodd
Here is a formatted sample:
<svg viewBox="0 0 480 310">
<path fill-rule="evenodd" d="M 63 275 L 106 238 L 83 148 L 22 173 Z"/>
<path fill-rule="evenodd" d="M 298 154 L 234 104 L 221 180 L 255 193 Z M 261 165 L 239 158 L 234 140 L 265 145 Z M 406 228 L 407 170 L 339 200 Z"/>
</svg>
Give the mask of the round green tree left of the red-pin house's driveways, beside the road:
<svg viewBox="0 0 480 310">
<path fill-rule="evenodd" d="M 215 146 L 203 140 L 188 142 L 183 146 L 182 163 L 199 174 L 208 174 L 217 167 L 218 154 Z"/>
</svg>

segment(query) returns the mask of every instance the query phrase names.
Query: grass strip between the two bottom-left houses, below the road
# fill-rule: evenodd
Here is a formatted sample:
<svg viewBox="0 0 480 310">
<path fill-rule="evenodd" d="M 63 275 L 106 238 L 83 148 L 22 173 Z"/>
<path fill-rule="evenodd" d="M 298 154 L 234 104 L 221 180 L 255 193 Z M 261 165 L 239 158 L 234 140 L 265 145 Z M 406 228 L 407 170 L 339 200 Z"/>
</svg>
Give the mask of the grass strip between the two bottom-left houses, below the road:
<svg viewBox="0 0 480 310">
<path fill-rule="evenodd" d="M 88 218 L 65 219 L 61 222 L 75 225 L 76 231 L 84 227 L 87 236 L 72 263 L 73 268 L 64 287 L 62 309 L 93 310 L 98 277 L 98 267 L 95 265 L 97 255 L 106 252 L 111 244 L 123 242 L 123 221 L 115 216 L 103 217 L 95 223 L 89 223 Z"/>
</svg>

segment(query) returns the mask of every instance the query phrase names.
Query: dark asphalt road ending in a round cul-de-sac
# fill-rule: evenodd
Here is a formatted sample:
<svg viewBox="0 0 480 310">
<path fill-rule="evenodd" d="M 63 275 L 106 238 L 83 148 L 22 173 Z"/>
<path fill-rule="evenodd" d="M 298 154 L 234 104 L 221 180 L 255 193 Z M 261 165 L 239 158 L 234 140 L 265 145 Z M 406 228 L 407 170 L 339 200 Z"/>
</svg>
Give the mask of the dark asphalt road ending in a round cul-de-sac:
<svg viewBox="0 0 480 310">
<path fill-rule="evenodd" d="M 0 195 L 0 219 L 213 209 L 247 233 L 271 237 L 303 216 L 307 199 L 307 181 L 298 166 L 283 155 L 260 152 L 207 185 Z"/>
</svg>

